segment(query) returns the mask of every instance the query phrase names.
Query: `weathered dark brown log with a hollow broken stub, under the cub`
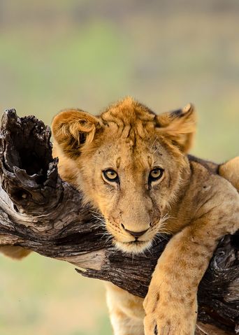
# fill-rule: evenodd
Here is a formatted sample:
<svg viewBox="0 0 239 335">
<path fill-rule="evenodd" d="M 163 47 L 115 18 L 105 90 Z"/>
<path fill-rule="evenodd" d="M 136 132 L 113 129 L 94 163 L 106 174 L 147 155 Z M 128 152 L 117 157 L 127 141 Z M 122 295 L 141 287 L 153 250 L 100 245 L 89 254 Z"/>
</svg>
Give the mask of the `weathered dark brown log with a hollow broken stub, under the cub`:
<svg viewBox="0 0 239 335">
<path fill-rule="evenodd" d="M 0 245 L 62 259 L 80 267 L 83 276 L 109 280 L 145 297 L 167 239 L 155 241 L 144 255 L 115 250 L 104 238 L 100 214 L 83 206 L 80 192 L 59 178 L 50 128 L 36 117 L 6 111 L 0 140 Z M 198 302 L 198 320 L 222 329 L 218 334 L 239 332 L 238 234 L 224 236 L 219 243 L 201 281 Z M 208 325 L 198 332 L 212 334 L 205 332 Z"/>
</svg>

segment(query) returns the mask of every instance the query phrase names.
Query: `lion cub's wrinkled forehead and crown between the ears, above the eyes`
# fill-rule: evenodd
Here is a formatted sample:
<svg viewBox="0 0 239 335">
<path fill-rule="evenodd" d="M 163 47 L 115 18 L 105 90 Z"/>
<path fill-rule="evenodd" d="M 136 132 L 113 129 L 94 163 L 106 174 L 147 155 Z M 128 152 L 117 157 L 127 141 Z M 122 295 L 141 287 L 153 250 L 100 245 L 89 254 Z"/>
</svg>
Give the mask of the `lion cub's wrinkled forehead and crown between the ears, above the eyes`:
<svg viewBox="0 0 239 335">
<path fill-rule="evenodd" d="M 99 152 L 103 149 L 103 156 L 114 161 L 114 166 L 126 166 L 129 162 L 131 165 L 136 162 L 138 168 L 151 166 L 158 142 L 155 116 L 131 97 L 109 106 L 100 115 L 103 127 L 98 135 Z"/>
</svg>

